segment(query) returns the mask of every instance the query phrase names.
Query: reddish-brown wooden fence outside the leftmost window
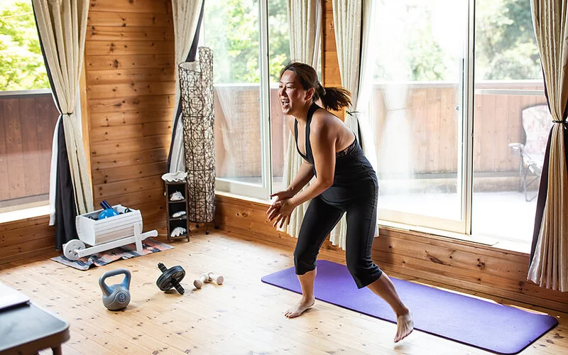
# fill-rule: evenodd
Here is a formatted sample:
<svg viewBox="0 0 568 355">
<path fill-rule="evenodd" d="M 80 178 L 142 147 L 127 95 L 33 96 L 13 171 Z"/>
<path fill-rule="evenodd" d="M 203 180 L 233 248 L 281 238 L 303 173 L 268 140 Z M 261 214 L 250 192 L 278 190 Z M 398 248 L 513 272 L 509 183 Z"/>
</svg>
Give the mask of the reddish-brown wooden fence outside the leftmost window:
<svg viewBox="0 0 568 355">
<path fill-rule="evenodd" d="M 58 117 L 51 94 L 0 97 L 0 201 L 49 193 Z"/>
</svg>

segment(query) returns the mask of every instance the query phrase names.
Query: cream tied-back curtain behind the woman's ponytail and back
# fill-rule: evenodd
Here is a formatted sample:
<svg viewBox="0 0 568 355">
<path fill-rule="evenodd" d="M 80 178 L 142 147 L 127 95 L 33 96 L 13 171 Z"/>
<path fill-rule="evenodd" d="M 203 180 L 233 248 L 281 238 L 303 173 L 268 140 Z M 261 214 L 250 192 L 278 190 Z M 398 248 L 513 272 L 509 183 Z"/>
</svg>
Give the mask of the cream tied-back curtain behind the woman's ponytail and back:
<svg viewBox="0 0 568 355">
<path fill-rule="evenodd" d="M 373 45 L 369 37 L 373 33 L 374 1 L 332 0 L 337 59 L 342 86 L 351 92 L 352 107 L 348 109 L 345 123 L 359 136 L 361 146 L 373 168 L 377 168 L 373 136 L 368 134 L 371 125 L 368 121 L 368 100 L 371 97 L 371 75 L 366 75 L 366 67 L 371 64 Z M 333 245 L 345 249 L 347 224 L 345 216 L 332 230 L 330 240 Z M 378 229 L 375 229 L 378 235 Z"/>
</svg>

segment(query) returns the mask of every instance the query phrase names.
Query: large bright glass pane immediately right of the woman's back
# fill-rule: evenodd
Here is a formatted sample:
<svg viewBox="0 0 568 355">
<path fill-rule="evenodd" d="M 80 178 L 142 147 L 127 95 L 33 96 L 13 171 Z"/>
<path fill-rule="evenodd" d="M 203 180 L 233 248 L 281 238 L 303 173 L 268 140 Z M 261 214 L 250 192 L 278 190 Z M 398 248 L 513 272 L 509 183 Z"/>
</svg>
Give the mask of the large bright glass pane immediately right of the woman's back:
<svg viewBox="0 0 568 355">
<path fill-rule="evenodd" d="M 369 114 L 378 207 L 460 220 L 467 1 L 376 5 Z"/>
</svg>

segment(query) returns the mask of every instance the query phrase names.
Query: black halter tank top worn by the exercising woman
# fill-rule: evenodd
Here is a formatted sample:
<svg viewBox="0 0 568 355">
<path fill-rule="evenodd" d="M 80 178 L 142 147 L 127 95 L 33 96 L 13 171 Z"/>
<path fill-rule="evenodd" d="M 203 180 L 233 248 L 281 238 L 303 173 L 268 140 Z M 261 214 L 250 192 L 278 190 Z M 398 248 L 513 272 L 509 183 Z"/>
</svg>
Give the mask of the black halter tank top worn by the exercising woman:
<svg viewBox="0 0 568 355">
<path fill-rule="evenodd" d="M 294 122 L 296 150 L 302 158 L 312 164 L 312 170 L 316 178 L 317 172 L 315 170 L 312 144 L 310 143 L 310 124 L 312 122 L 312 116 L 317 109 L 321 109 L 321 107 L 317 106 L 317 104 L 312 104 L 307 111 L 305 155 L 300 152 L 300 148 L 297 146 L 297 120 Z M 329 189 L 322 193 L 322 197 L 326 198 L 326 200 L 337 200 L 337 202 L 340 202 L 339 200 L 349 200 L 347 197 L 357 195 L 354 193 L 356 190 L 367 190 L 366 187 L 378 189 L 376 173 L 371 163 L 368 162 L 361 146 L 359 146 L 357 140 L 354 139 L 349 147 L 335 153 L 334 182 L 332 187 L 329 187 Z"/>
</svg>

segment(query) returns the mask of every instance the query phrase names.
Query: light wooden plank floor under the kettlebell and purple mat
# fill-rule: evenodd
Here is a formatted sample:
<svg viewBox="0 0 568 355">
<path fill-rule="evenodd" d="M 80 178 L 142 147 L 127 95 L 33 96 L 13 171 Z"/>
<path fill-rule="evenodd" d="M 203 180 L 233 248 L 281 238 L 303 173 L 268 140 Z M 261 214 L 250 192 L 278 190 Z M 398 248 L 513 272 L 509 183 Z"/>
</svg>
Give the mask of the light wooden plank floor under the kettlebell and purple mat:
<svg viewBox="0 0 568 355">
<path fill-rule="evenodd" d="M 0 280 L 70 322 L 63 354 L 491 354 L 417 331 L 393 344 L 395 324 L 321 301 L 288 320 L 283 311 L 298 295 L 261 277 L 293 266 L 290 247 L 219 231 L 173 245 L 89 271 L 50 260 L 6 264 Z M 320 257 L 343 262 L 327 251 Z M 156 287 L 158 262 L 185 268 L 185 295 Z M 131 303 L 121 312 L 103 307 L 98 285 L 99 276 L 115 268 L 132 272 Z M 204 271 L 224 275 L 224 285 L 195 290 L 193 280 Z M 568 314 L 538 310 L 560 324 L 522 354 L 567 354 Z"/>
</svg>

